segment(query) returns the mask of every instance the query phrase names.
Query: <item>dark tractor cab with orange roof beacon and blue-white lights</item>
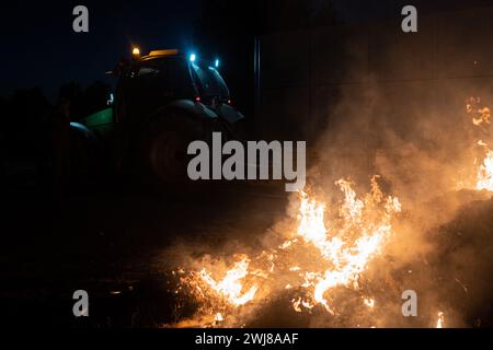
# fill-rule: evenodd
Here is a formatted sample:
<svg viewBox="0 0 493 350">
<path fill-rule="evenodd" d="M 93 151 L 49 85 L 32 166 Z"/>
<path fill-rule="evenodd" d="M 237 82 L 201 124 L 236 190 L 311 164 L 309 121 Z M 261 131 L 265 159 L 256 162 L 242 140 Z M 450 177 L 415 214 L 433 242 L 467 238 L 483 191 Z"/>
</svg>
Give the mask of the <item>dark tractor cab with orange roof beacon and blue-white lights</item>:
<svg viewBox="0 0 493 350">
<path fill-rule="evenodd" d="M 181 100 L 211 109 L 230 105 L 229 90 L 218 67 L 218 59 L 199 59 L 176 49 L 153 50 L 141 57 L 134 49 L 131 61 L 118 74 L 116 119 L 142 118 L 163 104 Z"/>
</svg>

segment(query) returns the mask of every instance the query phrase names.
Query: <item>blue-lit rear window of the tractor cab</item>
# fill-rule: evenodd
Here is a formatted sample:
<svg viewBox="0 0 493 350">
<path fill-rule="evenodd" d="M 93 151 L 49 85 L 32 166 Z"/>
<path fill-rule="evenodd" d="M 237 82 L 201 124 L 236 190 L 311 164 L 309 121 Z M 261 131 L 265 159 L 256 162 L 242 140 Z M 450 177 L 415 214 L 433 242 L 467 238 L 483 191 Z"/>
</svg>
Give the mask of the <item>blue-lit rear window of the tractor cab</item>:
<svg viewBox="0 0 493 350">
<path fill-rule="evenodd" d="M 219 72 L 213 67 L 204 68 L 192 65 L 192 75 L 203 97 L 229 98 L 229 90 Z"/>
</svg>

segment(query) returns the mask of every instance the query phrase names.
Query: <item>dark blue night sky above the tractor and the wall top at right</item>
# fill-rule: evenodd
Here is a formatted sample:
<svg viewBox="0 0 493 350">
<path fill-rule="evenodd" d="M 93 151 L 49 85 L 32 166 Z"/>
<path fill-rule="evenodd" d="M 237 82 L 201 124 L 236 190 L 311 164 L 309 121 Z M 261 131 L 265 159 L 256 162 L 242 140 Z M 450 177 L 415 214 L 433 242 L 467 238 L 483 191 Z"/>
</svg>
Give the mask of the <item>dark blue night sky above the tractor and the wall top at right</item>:
<svg viewBox="0 0 493 350">
<path fill-rule="evenodd" d="M 234 1 L 234 0 L 230 0 Z M 307 0 L 309 1 L 309 0 Z M 313 8 L 323 0 L 311 0 Z M 399 15 L 405 4 L 423 12 L 493 4 L 492 0 L 334 0 L 336 16 L 345 22 L 383 20 Z M 72 9 L 89 8 L 90 32 L 72 31 Z M 15 89 L 41 86 L 50 100 L 69 81 L 87 85 L 94 80 L 111 83 L 104 74 L 128 55 L 133 44 L 153 48 L 192 48 L 193 23 L 200 0 L 180 1 L 49 1 L 2 3 L 2 79 L 0 95 Z M 227 28 L 225 28 L 227 30 Z"/>
</svg>

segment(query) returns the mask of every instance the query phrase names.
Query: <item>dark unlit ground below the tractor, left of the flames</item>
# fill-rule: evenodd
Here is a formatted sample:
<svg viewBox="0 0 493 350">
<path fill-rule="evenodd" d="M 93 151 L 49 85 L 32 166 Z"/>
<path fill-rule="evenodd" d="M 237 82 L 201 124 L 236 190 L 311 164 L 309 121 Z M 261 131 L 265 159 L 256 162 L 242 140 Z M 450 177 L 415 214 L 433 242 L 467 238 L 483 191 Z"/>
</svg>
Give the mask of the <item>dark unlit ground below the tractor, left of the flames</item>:
<svg viewBox="0 0 493 350">
<path fill-rule="evenodd" d="M 2 192 L 2 320 L 9 325 L 157 326 L 173 319 L 165 250 L 174 244 L 254 244 L 283 215 L 272 186 L 227 186 L 213 196 L 152 195 L 125 185 L 53 196 L 18 172 Z M 170 257 L 172 259 L 172 257 Z M 90 316 L 72 315 L 87 290 Z"/>
</svg>

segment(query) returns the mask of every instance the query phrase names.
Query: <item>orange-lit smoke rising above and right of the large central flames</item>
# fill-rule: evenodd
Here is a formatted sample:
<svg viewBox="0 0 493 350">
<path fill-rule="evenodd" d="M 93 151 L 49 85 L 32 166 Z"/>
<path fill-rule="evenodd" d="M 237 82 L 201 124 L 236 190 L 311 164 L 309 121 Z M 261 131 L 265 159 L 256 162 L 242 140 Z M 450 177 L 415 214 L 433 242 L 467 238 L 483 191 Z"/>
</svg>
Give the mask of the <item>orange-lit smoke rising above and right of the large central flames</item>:
<svg viewBox="0 0 493 350">
<path fill-rule="evenodd" d="M 380 186 L 399 198 L 404 211 L 392 222 L 395 236 L 385 257 L 367 272 L 389 301 L 376 307 L 376 326 L 434 326 L 438 312 L 449 327 L 479 326 L 481 316 L 491 317 L 491 278 L 484 277 L 493 271 L 485 253 L 493 244 L 485 234 L 492 203 L 486 191 L 473 189 L 474 160 L 481 161 L 475 143 L 490 133 L 477 128 L 466 110 L 471 94 L 489 96 L 486 89 L 465 89 L 463 82 L 342 86 L 326 116 L 318 160 L 308 172 L 313 191 L 333 202 L 337 178 L 354 180 L 366 192 L 368 178 L 378 174 Z M 478 107 L 490 103 L 477 102 Z M 465 218 L 479 208 L 474 220 Z M 420 296 L 416 319 L 400 313 L 406 289 Z M 317 326 L 331 325 L 314 319 Z"/>
</svg>

